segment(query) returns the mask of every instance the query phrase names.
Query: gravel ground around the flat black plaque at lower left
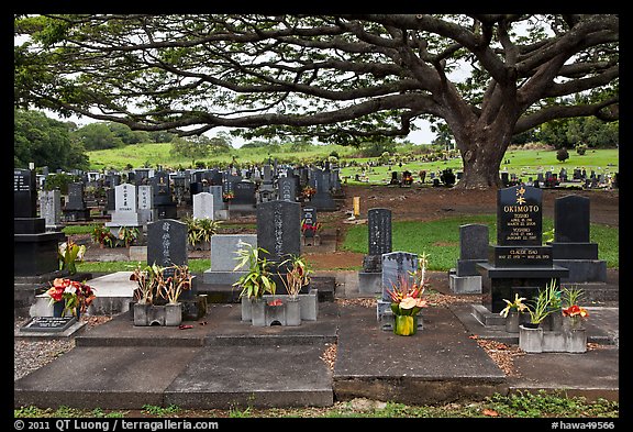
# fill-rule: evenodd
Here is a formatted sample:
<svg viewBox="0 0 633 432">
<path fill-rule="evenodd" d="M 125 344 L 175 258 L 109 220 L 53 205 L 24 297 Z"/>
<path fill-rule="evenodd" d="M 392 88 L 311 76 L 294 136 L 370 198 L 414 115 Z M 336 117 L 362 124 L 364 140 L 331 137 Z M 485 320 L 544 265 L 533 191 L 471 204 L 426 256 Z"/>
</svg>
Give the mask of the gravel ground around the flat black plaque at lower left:
<svg viewBox="0 0 633 432">
<path fill-rule="evenodd" d="M 80 320 L 88 324 L 86 331 L 90 331 L 95 325 L 109 321 L 110 317 L 81 317 Z M 14 331 L 27 319 L 16 318 L 14 320 Z M 38 369 L 40 367 L 53 362 L 64 353 L 75 347 L 75 339 L 58 339 L 38 341 L 34 339 L 14 339 L 13 340 L 13 380 Z"/>
</svg>

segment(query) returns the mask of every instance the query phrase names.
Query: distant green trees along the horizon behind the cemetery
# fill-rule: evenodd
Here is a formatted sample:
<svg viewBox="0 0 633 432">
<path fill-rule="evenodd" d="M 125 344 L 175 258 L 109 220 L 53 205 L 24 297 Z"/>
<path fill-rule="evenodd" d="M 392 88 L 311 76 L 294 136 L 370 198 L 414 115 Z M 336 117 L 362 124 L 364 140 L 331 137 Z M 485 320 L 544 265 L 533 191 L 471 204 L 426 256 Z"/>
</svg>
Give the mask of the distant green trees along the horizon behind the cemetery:
<svg viewBox="0 0 633 432">
<path fill-rule="evenodd" d="M 95 122 L 78 126 L 74 122 L 63 122 L 46 117 L 42 111 L 14 110 L 13 166 L 26 168 L 33 162 L 35 166 L 48 166 L 51 170 L 84 169 L 89 167 L 86 152 L 118 148 L 138 143 L 171 143 L 171 154 L 191 159 L 224 154 L 233 148 L 231 135 L 219 132 L 213 137 L 206 135 L 179 137 L 165 131 L 132 131 L 129 126 L 114 122 Z M 433 142 L 442 147 L 451 147 L 452 136 L 447 129 L 437 129 L 437 139 Z M 513 144 L 541 142 L 555 148 L 576 148 L 582 146 L 613 147 L 619 144 L 619 121 L 602 122 L 596 118 L 573 118 L 555 120 L 540 128 L 518 134 Z M 312 144 L 299 140 L 291 151 L 308 149 Z M 278 153 L 280 143 L 258 140 L 246 143 L 242 148 L 267 147 Z M 385 152 L 393 154 L 397 143 L 388 137 L 374 137 L 363 141 L 359 154 L 364 157 L 379 157 Z"/>
</svg>

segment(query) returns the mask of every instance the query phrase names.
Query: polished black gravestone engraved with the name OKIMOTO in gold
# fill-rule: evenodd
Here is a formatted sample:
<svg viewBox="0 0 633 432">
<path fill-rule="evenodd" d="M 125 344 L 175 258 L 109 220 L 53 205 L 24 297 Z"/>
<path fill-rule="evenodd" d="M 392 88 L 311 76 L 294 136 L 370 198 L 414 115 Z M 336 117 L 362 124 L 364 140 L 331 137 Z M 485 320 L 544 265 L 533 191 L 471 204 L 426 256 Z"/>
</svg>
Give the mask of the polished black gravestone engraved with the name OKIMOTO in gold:
<svg viewBox="0 0 633 432">
<path fill-rule="evenodd" d="M 554 265 L 552 246 L 543 243 L 543 191 L 526 186 L 499 189 L 497 245 L 489 246 L 488 263 L 478 263 L 482 276 L 482 306 L 500 312 L 518 293 L 536 296 L 552 279 L 559 285 L 569 270 Z"/>
</svg>

